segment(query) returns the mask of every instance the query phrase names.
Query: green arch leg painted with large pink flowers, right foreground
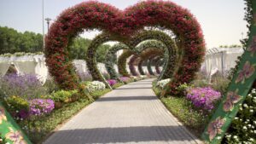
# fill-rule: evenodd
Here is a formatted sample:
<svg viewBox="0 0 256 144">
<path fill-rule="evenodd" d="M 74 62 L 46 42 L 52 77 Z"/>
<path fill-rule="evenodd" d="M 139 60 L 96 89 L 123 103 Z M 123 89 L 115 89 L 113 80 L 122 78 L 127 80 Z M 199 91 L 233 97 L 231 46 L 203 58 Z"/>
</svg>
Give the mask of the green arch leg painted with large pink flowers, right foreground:
<svg viewBox="0 0 256 144">
<path fill-rule="evenodd" d="M 211 144 L 218 144 L 229 129 L 232 120 L 236 117 L 239 105 L 245 100 L 256 79 L 256 1 L 253 6 L 253 25 L 250 27 L 248 48 L 241 55 L 238 70 L 234 75 L 227 94 L 218 105 L 210 123 L 202 134 L 203 140 Z"/>
</svg>

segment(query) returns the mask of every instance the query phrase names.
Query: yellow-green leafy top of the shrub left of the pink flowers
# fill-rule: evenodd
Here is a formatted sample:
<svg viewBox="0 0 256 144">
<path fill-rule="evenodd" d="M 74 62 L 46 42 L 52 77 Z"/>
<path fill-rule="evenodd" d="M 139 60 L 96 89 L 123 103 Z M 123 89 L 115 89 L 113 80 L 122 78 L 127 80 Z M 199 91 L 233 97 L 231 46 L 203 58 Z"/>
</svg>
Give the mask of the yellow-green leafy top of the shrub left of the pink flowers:
<svg viewBox="0 0 256 144">
<path fill-rule="evenodd" d="M 25 110 L 26 112 L 28 112 L 29 110 L 28 101 L 26 101 L 20 96 L 15 96 L 15 95 L 9 96 L 5 99 L 5 101 L 9 107 L 10 112 L 16 112 L 16 111 L 19 112 L 20 110 Z"/>
</svg>

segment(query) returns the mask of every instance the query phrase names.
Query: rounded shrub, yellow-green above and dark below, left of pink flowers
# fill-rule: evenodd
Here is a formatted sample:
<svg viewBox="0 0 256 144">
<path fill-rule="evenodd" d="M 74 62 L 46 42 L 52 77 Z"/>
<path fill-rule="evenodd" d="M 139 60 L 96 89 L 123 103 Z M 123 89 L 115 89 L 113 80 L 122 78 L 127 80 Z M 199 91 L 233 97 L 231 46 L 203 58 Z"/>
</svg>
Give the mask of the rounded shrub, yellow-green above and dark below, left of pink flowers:
<svg viewBox="0 0 256 144">
<path fill-rule="evenodd" d="M 23 99 L 20 96 L 9 96 L 5 99 L 8 110 L 11 115 L 16 118 L 27 118 L 29 112 L 29 103 L 26 99 Z"/>
</svg>

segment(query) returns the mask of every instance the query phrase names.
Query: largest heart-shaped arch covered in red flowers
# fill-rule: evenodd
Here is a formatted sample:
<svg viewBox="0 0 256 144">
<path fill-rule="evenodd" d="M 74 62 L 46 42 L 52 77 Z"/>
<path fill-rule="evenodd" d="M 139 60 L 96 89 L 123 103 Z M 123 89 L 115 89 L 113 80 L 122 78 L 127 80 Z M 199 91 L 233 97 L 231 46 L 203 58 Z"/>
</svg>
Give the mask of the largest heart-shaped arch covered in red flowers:
<svg viewBox="0 0 256 144">
<path fill-rule="evenodd" d="M 50 26 L 45 37 L 46 64 L 61 89 L 77 89 L 79 78 L 68 57 L 67 45 L 84 30 L 98 29 L 120 41 L 144 26 L 160 26 L 180 37 L 183 59 L 170 88 L 195 77 L 205 55 L 201 26 L 189 10 L 167 1 L 137 3 L 124 11 L 105 3 L 84 2 L 66 9 Z"/>
</svg>

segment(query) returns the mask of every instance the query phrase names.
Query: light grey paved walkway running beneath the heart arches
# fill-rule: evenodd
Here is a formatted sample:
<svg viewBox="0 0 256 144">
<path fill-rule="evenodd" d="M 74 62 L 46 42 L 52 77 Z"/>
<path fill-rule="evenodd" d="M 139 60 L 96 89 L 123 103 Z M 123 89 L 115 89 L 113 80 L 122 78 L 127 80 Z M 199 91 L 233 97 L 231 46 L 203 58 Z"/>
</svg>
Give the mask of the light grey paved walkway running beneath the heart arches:
<svg viewBox="0 0 256 144">
<path fill-rule="evenodd" d="M 44 144 L 197 143 L 154 95 L 152 81 L 114 89 L 84 108 Z"/>
</svg>

